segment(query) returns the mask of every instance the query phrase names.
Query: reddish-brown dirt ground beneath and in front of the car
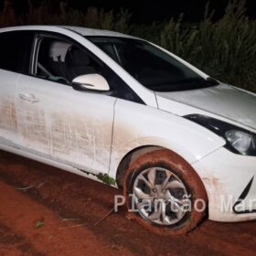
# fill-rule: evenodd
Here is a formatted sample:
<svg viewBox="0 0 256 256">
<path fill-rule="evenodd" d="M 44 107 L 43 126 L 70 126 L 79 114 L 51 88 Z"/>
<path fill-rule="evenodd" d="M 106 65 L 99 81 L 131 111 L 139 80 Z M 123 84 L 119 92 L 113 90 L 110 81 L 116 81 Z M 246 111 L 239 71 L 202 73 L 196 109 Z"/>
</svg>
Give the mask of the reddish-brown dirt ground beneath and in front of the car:
<svg viewBox="0 0 256 256">
<path fill-rule="evenodd" d="M 118 193 L 87 178 L 0 152 L 0 256 L 255 255 L 256 221 L 207 220 L 187 236 L 163 238 L 139 227 L 123 209 L 95 226 L 111 210 Z M 36 228 L 39 220 L 44 226 Z"/>
</svg>

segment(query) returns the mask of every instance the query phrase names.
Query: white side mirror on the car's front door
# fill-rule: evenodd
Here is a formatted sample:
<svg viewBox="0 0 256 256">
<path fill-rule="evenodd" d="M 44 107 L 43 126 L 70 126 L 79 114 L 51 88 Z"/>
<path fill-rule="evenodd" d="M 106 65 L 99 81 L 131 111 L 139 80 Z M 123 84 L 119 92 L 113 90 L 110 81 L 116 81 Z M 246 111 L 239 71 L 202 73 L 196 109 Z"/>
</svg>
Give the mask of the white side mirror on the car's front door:
<svg viewBox="0 0 256 256">
<path fill-rule="evenodd" d="M 99 74 L 79 76 L 71 85 L 77 91 L 110 91 L 109 83 Z"/>
</svg>

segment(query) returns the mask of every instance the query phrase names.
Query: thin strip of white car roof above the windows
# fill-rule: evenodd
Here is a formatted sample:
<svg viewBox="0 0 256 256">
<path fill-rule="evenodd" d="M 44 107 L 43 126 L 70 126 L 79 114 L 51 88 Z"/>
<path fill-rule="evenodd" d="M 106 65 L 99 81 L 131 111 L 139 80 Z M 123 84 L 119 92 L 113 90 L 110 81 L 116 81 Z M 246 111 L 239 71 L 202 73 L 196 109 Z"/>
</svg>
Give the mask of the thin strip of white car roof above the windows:
<svg viewBox="0 0 256 256">
<path fill-rule="evenodd" d="M 0 29 L 0 32 L 4 31 L 17 31 L 17 30 L 42 30 L 45 28 L 46 30 L 50 28 L 65 28 L 69 29 L 73 32 L 80 34 L 83 37 L 126 37 L 126 38 L 135 38 L 129 35 L 125 35 L 123 33 L 110 31 L 110 30 L 102 30 L 102 29 L 94 29 L 88 27 L 75 27 L 75 26 L 19 26 L 19 27 L 4 27 Z"/>
</svg>

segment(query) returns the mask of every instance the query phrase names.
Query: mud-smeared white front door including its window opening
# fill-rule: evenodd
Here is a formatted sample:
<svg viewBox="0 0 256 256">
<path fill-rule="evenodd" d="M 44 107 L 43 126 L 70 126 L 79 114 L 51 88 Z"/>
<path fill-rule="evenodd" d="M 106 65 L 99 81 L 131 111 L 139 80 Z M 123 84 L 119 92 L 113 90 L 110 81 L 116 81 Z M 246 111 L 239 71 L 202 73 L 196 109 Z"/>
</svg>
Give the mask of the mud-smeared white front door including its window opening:
<svg viewBox="0 0 256 256">
<path fill-rule="evenodd" d="M 101 66 L 58 37 L 38 37 L 37 46 L 32 75 L 20 78 L 16 92 L 21 147 L 81 170 L 108 172 L 116 98 L 70 86 Z"/>
</svg>

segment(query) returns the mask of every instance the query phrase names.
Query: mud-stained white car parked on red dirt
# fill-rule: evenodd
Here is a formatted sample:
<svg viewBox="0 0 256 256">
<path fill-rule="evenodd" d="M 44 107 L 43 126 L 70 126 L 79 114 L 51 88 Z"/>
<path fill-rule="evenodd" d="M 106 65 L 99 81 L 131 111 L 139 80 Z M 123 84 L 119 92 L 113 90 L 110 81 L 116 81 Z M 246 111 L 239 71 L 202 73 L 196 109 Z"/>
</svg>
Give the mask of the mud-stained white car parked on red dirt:
<svg viewBox="0 0 256 256">
<path fill-rule="evenodd" d="M 256 219 L 255 94 L 111 31 L 7 27 L 0 46 L 2 150 L 123 187 L 158 233 Z"/>
</svg>

